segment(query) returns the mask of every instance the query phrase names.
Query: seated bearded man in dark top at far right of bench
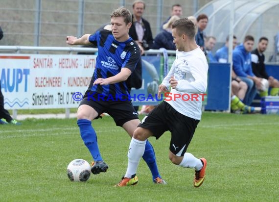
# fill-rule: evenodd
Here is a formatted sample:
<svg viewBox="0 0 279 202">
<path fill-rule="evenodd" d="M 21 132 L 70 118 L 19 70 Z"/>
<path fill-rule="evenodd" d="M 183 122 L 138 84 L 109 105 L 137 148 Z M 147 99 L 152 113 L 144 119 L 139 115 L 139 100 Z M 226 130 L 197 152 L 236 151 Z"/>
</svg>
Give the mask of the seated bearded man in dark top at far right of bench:
<svg viewBox="0 0 279 202">
<path fill-rule="evenodd" d="M 273 76 L 269 76 L 265 71 L 264 54 L 268 45 L 268 39 L 261 37 L 258 40 L 257 48 L 252 51 L 252 69 L 255 76 L 265 79 L 268 86 L 272 87 L 270 91 L 271 96 L 278 96 L 279 94 L 279 81 Z M 263 81 L 262 81 L 263 82 Z M 260 91 L 260 97 L 268 96 L 268 88 L 265 91 Z"/>
</svg>

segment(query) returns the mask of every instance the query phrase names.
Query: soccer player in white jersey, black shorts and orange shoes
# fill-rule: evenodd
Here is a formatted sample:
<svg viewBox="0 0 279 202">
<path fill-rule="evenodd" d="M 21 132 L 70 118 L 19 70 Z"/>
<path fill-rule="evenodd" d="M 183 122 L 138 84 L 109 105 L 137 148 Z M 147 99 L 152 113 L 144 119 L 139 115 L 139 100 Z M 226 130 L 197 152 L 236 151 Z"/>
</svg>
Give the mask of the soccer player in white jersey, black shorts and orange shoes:
<svg viewBox="0 0 279 202">
<path fill-rule="evenodd" d="M 171 87 L 168 99 L 161 102 L 150 114 L 144 117 L 134 131 L 128 150 L 126 174 L 115 186 L 129 186 L 138 182 L 136 176 L 140 157 L 144 152 L 145 141 L 150 136 L 158 139 L 165 131 L 171 132 L 169 159 L 183 168 L 194 168 L 194 187 L 202 185 L 205 179 L 207 160 L 196 158 L 186 152 L 202 115 L 202 96 L 207 89 L 208 63 L 203 51 L 195 41 L 195 25 L 180 19 L 172 25 L 172 35 L 176 45 L 176 60 L 168 75 L 159 86 L 158 94 Z M 169 99 L 169 96 L 172 99 Z M 180 99 L 179 99 L 180 97 Z M 176 98 L 176 99 L 175 99 Z"/>
</svg>

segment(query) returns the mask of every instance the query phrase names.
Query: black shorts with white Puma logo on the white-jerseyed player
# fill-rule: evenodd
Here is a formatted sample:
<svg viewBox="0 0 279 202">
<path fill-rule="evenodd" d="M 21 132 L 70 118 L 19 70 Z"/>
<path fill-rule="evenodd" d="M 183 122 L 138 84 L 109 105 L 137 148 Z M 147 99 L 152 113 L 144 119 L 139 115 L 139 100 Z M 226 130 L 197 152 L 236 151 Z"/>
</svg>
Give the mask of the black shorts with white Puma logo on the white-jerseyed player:
<svg viewBox="0 0 279 202">
<path fill-rule="evenodd" d="M 156 139 L 169 130 L 169 150 L 175 155 L 184 156 L 199 122 L 179 113 L 163 101 L 142 119 L 139 127 L 149 129 Z"/>
</svg>

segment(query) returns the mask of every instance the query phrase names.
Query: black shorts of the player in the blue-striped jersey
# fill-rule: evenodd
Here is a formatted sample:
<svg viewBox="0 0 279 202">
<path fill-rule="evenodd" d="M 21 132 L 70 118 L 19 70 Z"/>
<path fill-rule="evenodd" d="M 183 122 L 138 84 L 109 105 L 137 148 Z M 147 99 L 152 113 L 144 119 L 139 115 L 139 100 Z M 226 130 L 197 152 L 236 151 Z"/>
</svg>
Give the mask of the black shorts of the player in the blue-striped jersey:
<svg viewBox="0 0 279 202">
<path fill-rule="evenodd" d="M 105 112 L 113 117 L 116 126 L 121 127 L 128 121 L 139 119 L 138 113 L 135 111 L 131 101 L 103 101 L 95 95 L 93 96 L 94 99 L 92 99 L 88 98 L 88 93 L 93 95 L 93 91 L 87 90 L 79 106 L 86 104 L 95 109 L 98 113 L 98 117 L 95 119 L 100 118 L 100 115 Z"/>
</svg>

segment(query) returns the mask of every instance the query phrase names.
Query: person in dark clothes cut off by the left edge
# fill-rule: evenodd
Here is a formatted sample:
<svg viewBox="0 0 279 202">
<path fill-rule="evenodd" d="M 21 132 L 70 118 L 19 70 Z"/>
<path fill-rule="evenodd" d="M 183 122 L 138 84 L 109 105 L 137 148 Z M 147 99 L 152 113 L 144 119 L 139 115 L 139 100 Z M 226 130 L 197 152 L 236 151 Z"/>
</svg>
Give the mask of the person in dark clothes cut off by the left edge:
<svg viewBox="0 0 279 202">
<path fill-rule="evenodd" d="M 0 27 L 0 40 L 3 38 L 3 31 Z M 9 111 L 4 108 L 4 96 L 1 91 L 1 80 L 0 80 L 0 125 L 14 124 L 21 125 L 21 123 L 14 120 Z"/>
</svg>

